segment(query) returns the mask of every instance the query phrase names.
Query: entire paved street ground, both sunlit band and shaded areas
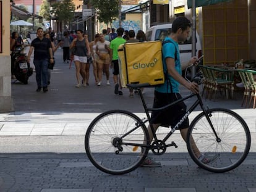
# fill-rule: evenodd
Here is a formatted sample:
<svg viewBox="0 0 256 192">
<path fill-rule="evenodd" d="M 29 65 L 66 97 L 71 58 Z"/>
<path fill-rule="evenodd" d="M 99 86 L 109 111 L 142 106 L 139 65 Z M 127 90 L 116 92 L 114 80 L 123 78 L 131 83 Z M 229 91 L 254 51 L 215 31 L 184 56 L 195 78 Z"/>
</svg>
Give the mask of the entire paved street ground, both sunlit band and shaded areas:
<svg viewBox="0 0 256 192">
<path fill-rule="evenodd" d="M 145 117 L 138 96 L 114 95 L 112 85 L 95 86 L 91 70 L 90 86 L 75 88 L 74 64 L 63 64 L 62 50 L 55 54 L 48 93 L 36 93 L 35 73 L 28 85 L 12 83 L 14 111 L 0 114 L 0 191 L 256 191 L 256 109 L 241 108 L 242 92 L 234 99 L 218 95 L 205 101 L 209 107 L 236 111 L 249 125 L 252 147 L 245 162 L 228 173 L 198 169 L 186 145 L 174 133 L 179 148 L 163 156 L 160 168 L 139 168 L 126 175 L 108 175 L 88 160 L 83 146 L 85 131 L 96 115 L 109 109 L 124 109 Z M 189 94 L 182 89 L 182 94 Z M 145 89 L 148 104 L 153 89 Z M 192 101 L 187 101 L 190 104 Z M 197 110 L 190 119 L 200 112 Z M 160 132 L 168 130 L 163 129 Z"/>
</svg>

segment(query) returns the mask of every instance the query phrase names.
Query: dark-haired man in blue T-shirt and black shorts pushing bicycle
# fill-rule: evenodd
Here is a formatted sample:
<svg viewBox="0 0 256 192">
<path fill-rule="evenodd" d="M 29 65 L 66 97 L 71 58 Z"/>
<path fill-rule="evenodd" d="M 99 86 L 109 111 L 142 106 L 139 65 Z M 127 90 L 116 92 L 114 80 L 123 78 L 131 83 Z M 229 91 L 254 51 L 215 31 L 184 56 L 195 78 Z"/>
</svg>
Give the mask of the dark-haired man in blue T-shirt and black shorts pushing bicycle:
<svg viewBox="0 0 256 192">
<path fill-rule="evenodd" d="M 170 104 L 171 102 L 181 99 L 179 93 L 179 85 L 185 86 L 193 93 L 198 93 L 197 83 L 187 81 L 181 76 L 183 69 L 186 69 L 192 64 L 197 63 L 197 57 L 192 57 L 186 64 L 181 64 L 179 58 L 179 42 L 186 41 L 190 33 L 190 21 L 186 17 L 177 17 L 172 25 L 171 34 L 169 34 L 163 41 L 163 68 L 164 72 L 168 74 L 168 78 L 164 81 L 163 85 L 156 86 L 155 98 L 153 102 L 153 108 L 160 108 Z M 158 127 L 174 127 L 179 120 L 186 114 L 187 106 L 184 102 L 179 102 L 174 106 L 169 107 L 165 111 L 153 111 L 151 113 L 151 119 L 154 131 Z M 189 128 L 189 119 L 179 127 L 181 136 L 184 141 L 187 138 L 187 131 Z M 151 128 L 148 127 L 148 133 L 150 136 L 150 142 L 153 140 L 153 133 Z M 215 161 L 217 156 L 207 156 L 201 154 L 197 146 L 194 144 L 194 152 L 198 159 L 204 164 Z M 150 157 L 146 157 L 142 164 L 143 167 L 160 167 L 160 162 L 155 162 Z"/>
</svg>

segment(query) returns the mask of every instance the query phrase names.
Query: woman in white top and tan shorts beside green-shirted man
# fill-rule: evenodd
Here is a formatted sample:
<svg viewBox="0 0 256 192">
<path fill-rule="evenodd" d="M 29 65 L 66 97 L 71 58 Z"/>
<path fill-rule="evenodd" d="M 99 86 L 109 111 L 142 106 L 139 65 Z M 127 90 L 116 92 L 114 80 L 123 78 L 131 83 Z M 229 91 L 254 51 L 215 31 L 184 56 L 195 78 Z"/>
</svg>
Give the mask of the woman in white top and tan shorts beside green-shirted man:
<svg viewBox="0 0 256 192">
<path fill-rule="evenodd" d="M 102 73 L 103 68 L 105 69 L 106 73 L 106 85 L 110 85 L 109 83 L 109 41 L 106 41 L 104 38 L 104 35 L 100 34 L 100 41 L 96 43 L 96 63 L 97 63 L 97 69 L 98 69 L 98 86 L 101 86 L 101 80 L 102 80 Z"/>
</svg>

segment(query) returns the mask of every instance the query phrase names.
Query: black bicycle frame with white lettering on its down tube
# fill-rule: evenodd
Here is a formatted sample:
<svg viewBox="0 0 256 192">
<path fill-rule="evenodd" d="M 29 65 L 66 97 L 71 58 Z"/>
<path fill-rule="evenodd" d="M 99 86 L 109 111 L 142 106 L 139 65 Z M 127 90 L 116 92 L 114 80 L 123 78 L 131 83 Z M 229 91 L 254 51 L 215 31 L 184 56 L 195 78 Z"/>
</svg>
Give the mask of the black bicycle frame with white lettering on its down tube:
<svg viewBox="0 0 256 192">
<path fill-rule="evenodd" d="M 136 130 L 141 125 L 145 125 L 145 123 L 149 122 L 151 132 L 153 133 L 153 138 L 154 138 L 155 141 L 158 141 L 158 138 L 156 136 L 155 130 L 153 128 L 153 124 L 151 123 L 151 117 L 150 117 L 149 112 L 150 111 L 163 111 L 164 109 L 168 109 L 168 107 L 171 107 L 174 104 L 177 104 L 179 102 L 185 101 L 186 99 L 193 98 L 194 96 L 197 96 L 197 100 L 192 104 L 192 106 L 190 106 L 190 108 L 186 111 L 186 114 L 181 118 L 181 120 L 179 120 L 179 122 L 173 128 L 171 128 L 169 133 L 163 138 L 162 141 L 163 142 L 167 141 L 168 138 L 171 135 L 173 135 L 174 131 L 176 131 L 176 129 L 179 128 L 179 126 L 184 122 L 184 120 L 187 119 L 187 117 L 189 117 L 189 114 L 191 112 L 193 112 L 198 105 L 200 105 L 203 113 L 205 114 L 205 117 L 207 118 L 208 122 L 210 123 L 210 126 L 211 126 L 211 128 L 213 130 L 213 133 L 215 133 L 216 140 L 220 141 L 220 138 L 218 138 L 218 135 L 217 135 L 215 129 L 213 128 L 212 123 L 211 123 L 211 120 L 210 120 L 210 118 L 207 115 L 207 109 L 203 105 L 203 101 L 202 101 L 202 98 L 201 98 L 200 94 L 192 93 L 189 96 L 186 96 L 184 98 L 178 99 L 177 101 L 171 102 L 170 104 L 168 104 L 166 106 L 159 107 L 159 108 L 150 108 L 150 107 L 147 107 L 147 104 L 145 102 L 145 99 L 143 98 L 143 94 L 142 94 L 142 91 L 140 90 L 140 88 L 137 88 L 137 90 L 139 92 L 140 99 L 142 100 L 143 108 L 144 108 L 145 114 L 147 115 L 147 119 L 142 120 L 142 122 L 138 122 L 138 125 L 135 128 L 133 128 L 132 130 L 130 130 L 129 132 L 127 132 L 125 135 L 122 135 L 121 139 L 124 138 L 126 135 L 129 135 L 130 133 L 132 133 L 134 130 Z M 123 142 L 122 142 L 122 144 L 141 146 L 141 147 L 146 147 L 146 148 L 149 148 L 149 149 L 152 149 L 152 147 L 153 147 L 153 146 L 151 146 L 151 144 L 137 144 L 137 143 L 123 143 Z M 166 144 L 166 147 L 169 147 L 169 146 L 173 146 L 173 143 Z"/>
</svg>

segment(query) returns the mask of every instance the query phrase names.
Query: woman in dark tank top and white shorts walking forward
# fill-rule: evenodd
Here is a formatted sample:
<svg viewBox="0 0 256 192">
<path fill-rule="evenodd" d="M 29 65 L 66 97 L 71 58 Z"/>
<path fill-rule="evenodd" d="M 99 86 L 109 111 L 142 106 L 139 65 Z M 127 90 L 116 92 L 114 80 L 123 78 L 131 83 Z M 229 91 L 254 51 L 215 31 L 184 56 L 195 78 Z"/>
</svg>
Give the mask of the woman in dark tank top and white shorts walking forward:
<svg viewBox="0 0 256 192">
<path fill-rule="evenodd" d="M 77 30 L 77 38 L 72 41 L 69 48 L 74 48 L 75 77 L 77 78 L 77 85 L 75 85 L 75 87 L 79 88 L 81 86 L 80 73 L 83 78 L 82 85 L 87 86 L 85 68 L 87 64 L 87 58 L 90 56 L 90 46 L 88 38 L 83 37 L 82 30 Z"/>
</svg>

